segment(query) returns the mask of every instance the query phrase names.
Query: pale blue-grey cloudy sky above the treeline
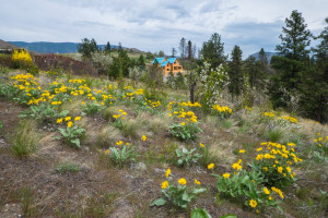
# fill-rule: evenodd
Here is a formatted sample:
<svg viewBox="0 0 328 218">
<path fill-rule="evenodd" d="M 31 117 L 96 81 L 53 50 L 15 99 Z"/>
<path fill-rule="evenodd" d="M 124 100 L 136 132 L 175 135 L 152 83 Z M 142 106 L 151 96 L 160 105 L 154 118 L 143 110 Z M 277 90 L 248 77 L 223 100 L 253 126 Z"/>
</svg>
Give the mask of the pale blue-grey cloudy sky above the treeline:
<svg viewBox="0 0 328 218">
<path fill-rule="evenodd" d="M 285 17 L 302 12 L 318 34 L 328 0 L 0 0 L 0 39 L 72 41 L 164 50 L 171 55 L 181 37 L 197 47 L 219 33 L 224 50 L 238 45 L 244 58 L 274 51 Z"/>
</svg>

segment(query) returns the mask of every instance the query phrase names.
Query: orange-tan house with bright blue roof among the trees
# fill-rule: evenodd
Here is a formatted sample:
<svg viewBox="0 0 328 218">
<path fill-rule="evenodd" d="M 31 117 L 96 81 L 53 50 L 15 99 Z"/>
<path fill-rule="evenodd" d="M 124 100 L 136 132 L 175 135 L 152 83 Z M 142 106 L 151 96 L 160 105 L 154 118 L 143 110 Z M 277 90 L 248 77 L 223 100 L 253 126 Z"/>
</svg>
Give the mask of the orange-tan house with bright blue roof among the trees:
<svg viewBox="0 0 328 218">
<path fill-rule="evenodd" d="M 177 58 L 155 58 L 152 64 L 157 64 L 157 66 L 162 70 L 165 76 L 167 76 L 169 72 L 172 72 L 173 75 L 175 75 L 178 72 L 183 73 L 184 71 Z"/>
</svg>

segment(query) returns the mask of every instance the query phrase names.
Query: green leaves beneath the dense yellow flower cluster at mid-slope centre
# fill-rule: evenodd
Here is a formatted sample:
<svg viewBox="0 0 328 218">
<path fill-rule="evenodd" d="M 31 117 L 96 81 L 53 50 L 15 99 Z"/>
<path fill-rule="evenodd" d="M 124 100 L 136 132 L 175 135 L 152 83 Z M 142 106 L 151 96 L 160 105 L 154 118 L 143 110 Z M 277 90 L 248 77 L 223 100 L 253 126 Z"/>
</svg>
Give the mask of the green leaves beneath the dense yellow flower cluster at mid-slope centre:
<svg viewBox="0 0 328 218">
<path fill-rule="evenodd" d="M 174 123 L 173 125 L 168 126 L 169 133 L 183 141 L 187 140 L 196 140 L 197 133 L 202 132 L 200 128 L 197 126 L 198 123 Z"/>
</svg>

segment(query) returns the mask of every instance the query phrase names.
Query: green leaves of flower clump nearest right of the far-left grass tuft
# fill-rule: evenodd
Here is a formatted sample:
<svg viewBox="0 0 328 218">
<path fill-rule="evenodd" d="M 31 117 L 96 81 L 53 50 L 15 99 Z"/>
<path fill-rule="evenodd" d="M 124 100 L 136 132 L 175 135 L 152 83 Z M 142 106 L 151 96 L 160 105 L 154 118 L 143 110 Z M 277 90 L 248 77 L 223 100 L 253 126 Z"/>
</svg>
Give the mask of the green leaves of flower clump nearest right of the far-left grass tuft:
<svg viewBox="0 0 328 218">
<path fill-rule="evenodd" d="M 71 128 L 67 126 L 66 129 L 59 128 L 58 130 L 60 131 L 61 136 L 66 140 L 66 142 L 69 145 L 80 148 L 80 138 L 83 137 L 85 134 L 85 130 L 83 128 L 80 128 L 79 125 L 73 125 Z"/>
</svg>

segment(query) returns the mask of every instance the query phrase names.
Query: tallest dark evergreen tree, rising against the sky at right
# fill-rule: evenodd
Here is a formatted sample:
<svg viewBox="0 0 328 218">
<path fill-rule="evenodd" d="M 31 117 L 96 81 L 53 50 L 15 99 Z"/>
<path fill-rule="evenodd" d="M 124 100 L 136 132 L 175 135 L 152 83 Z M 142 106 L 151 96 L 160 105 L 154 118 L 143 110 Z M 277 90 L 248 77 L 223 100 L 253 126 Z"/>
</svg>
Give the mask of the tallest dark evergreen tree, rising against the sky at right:
<svg viewBox="0 0 328 218">
<path fill-rule="evenodd" d="M 285 107 L 292 99 L 297 99 L 304 88 L 304 73 L 307 71 L 311 43 L 311 32 L 302 13 L 293 11 L 290 19 L 285 19 L 284 35 L 280 35 L 281 45 L 277 46 L 280 56 L 271 59 L 271 65 L 277 71 L 271 78 L 269 94 L 273 107 Z"/>
</svg>

